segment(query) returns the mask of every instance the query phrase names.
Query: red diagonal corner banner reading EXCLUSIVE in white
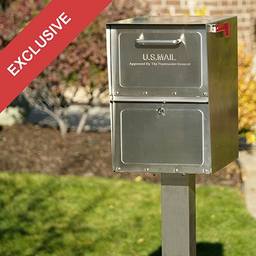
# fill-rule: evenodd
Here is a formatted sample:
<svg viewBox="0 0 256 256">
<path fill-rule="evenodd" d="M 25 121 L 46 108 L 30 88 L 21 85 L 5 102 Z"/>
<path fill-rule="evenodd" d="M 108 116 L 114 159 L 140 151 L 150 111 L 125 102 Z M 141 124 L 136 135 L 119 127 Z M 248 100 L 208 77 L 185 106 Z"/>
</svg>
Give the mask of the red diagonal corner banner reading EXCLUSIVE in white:
<svg viewBox="0 0 256 256">
<path fill-rule="evenodd" d="M 0 52 L 0 113 L 111 0 L 52 0 Z"/>
</svg>

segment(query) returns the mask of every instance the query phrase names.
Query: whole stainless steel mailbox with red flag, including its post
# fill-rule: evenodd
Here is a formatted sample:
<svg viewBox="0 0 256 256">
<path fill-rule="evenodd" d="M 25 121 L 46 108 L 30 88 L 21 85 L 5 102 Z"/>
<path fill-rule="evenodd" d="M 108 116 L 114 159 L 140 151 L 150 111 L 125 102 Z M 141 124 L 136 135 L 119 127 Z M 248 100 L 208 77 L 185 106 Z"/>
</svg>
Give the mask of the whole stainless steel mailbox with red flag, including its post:
<svg viewBox="0 0 256 256">
<path fill-rule="evenodd" d="M 162 253 L 195 256 L 195 175 L 238 157 L 237 19 L 107 24 L 114 172 L 162 173 Z"/>
</svg>

